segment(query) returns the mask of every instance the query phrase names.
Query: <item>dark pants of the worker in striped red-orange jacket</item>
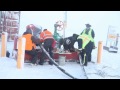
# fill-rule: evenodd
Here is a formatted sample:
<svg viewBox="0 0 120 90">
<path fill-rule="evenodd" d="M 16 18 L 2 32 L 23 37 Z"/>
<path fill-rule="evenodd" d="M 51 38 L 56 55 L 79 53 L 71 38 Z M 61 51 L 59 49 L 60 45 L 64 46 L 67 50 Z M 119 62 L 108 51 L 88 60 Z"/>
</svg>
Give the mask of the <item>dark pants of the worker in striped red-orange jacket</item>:
<svg viewBox="0 0 120 90">
<path fill-rule="evenodd" d="M 53 47 L 52 47 L 53 41 L 54 41 L 53 39 L 46 39 L 44 41 L 44 45 L 43 45 L 43 47 L 49 53 L 49 55 L 51 56 L 51 58 L 53 58 Z M 46 59 L 46 55 L 43 52 L 42 55 L 41 55 L 40 64 L 43 64 L 45 59 Z M 52 64 L 52 62 L 49 61 L 49 64 Z"/>
</svg>

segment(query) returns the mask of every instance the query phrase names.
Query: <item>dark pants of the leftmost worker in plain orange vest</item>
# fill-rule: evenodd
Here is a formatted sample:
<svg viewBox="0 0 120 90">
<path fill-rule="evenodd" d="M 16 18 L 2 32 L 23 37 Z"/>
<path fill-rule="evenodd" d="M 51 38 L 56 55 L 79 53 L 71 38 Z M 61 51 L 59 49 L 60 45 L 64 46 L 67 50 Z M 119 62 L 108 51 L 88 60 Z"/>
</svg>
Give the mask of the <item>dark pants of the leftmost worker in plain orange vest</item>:
<svg viewBox="0 0 120 90">
<path fill-rule="evenodd" d="M 38 59 L 38 52 L 33 49 L 31 51 L 25 50 L 25 53 L 29 54 L 32 57 L 31 63 L 35 64 Z"/>
</svg>

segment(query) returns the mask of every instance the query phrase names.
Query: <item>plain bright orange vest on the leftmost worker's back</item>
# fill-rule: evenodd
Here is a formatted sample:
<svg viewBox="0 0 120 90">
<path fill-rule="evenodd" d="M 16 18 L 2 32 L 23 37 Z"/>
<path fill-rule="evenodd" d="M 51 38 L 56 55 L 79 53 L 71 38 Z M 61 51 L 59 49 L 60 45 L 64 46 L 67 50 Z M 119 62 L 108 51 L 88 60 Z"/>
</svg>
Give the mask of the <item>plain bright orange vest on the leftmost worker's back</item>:
<svg viewBox="0 0 120 90">
<path fill-rule="evenodd" d="M 36 48 L 36 45 L 31 40 L 32 34 L 25 34 L 23 37 L 26 38 L 25 50 L 32 50 L 32 48 Z"/>
</svg>

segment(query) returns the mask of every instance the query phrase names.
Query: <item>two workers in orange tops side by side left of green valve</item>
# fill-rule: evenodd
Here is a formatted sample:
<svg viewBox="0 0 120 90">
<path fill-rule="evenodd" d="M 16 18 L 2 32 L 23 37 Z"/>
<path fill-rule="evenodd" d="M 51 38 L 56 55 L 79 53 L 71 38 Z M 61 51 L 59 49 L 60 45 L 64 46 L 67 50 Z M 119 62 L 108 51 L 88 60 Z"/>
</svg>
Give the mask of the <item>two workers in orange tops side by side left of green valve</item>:
<svg viewBox="0 0 120 90">
<path fill-rule="evenodd" d="M 36 38 L 33 35 L 33 31 L 31 26 L 28 25 L 26 27 L 26 31 L 23 33 L 23 37 L 26 38 L 26 46 L 25 46 L 25 53 L 29 54 L 32 59 L 31 59 L 31 63 L 33 65 L 37 64 L 37 60 L 38 60 L 38 51 L 36 50 L 36 45 L 42 45 L 45 48 L 45 50 L 47 52 L 49 52 L 51 58 L 53 58 L 53 43 L 54 43 L 54 38 L 53 35 L 50 31 L 48 31 L 47 29 L 44 29 L 43 32 L 39 33 L 39 37 L 40 38 Z M 44 64 L 44 60 L 45 60 L 46 56 L 44 54 L 44 52 L 41 53 L 40 55 L 40 60 L 39 60 L 39 64 L 43 65 Z M 51 61 L 49 61 L 50 65 L 53 65 L 53 63 Z"/>
</svg>

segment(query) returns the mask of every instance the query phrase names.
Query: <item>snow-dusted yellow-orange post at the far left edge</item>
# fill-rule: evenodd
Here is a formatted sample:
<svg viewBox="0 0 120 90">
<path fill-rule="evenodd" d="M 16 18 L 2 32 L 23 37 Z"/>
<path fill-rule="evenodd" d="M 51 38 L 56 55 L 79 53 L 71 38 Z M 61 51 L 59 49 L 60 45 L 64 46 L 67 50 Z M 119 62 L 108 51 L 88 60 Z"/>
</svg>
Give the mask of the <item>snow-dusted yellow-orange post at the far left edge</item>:
<svg viewBox="0 0 120 90">
<path fill-rule="evenodd" d="M 6 57 L 7 51 L 7 32 L 2 33 L 1 57 Z"/>
</svg>

